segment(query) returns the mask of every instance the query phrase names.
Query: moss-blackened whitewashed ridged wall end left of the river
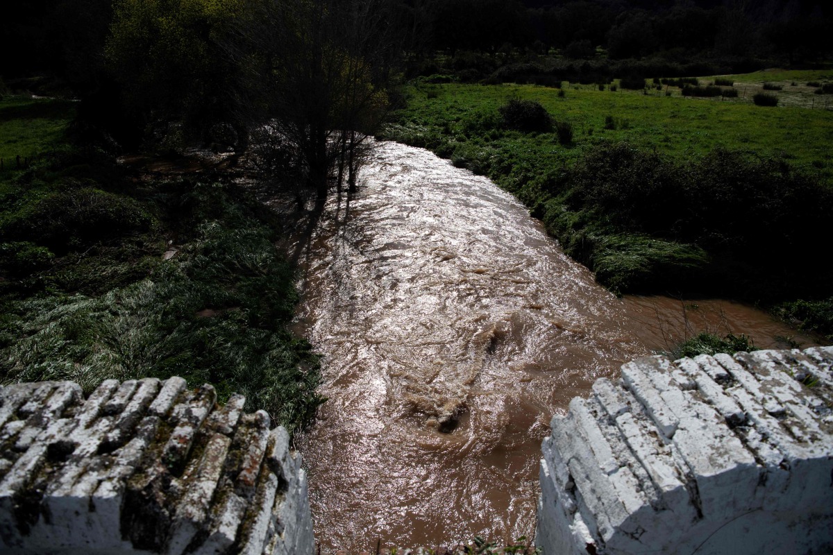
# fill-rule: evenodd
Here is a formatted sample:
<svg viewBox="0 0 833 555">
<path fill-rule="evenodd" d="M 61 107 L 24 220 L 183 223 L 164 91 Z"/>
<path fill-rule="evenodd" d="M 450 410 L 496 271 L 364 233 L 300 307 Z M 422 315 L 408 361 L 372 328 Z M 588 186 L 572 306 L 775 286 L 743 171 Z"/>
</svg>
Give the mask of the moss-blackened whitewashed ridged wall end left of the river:
<svg viewBox="0 0 833 555">
<path fill-rule="evenodd" d="M 184 379 L 0 389 L 0 553 L 312 555 L 300 456 Z"/>
</svg>

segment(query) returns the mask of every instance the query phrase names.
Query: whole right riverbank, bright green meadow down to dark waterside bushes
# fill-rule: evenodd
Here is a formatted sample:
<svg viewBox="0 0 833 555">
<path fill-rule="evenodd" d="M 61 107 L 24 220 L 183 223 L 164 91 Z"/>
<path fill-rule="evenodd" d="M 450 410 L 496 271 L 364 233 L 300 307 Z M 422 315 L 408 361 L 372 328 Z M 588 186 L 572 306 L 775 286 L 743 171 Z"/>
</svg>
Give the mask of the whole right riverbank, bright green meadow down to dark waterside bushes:
<svg viewBox="0 0 833 555">
<path fill-rule="evenodd" d="M 386 137 L 489 176 L 611 290 L 831 295 L 808 265 L 831 240 L 833 111 L 562 87 L 416 83 Z M 511 100 L 551 126 L 513 125 Z"/>
</svg>

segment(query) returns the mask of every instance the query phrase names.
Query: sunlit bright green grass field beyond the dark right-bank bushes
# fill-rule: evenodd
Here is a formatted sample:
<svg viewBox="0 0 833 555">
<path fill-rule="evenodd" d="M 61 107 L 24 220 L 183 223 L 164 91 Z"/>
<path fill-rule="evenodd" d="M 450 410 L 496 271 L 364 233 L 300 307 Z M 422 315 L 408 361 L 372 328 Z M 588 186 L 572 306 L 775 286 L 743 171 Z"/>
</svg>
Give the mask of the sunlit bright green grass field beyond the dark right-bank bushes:
<svg viewBox="0 0 833 555">
<path fill-rule="evenodd" d="M 706 79 L 703 80 L 706 82 Z M 741 86 L 742 87 L 742 86 Z M 575 160 L 603 141 L 628 141 L 683 159 L 704 155 L 716 147 L 784 156 L 797 167 L 821 171 L 833 178 L 833 110 L 801 107 L 757 107 L 747 98 L 681 97 L 680 89 L 663 91 L 599 91 L 590 85 L 558 90 L 534 85 L 418 85 L 408 89 L 409 106 L 399 122 L 416 133 L 441 133 L 450 141 L 474 141 L 484 147 L 532 149 L 536 156 Z M 812 95 L 824 100 L 820 95 Z M 493 116 L 510 98 L 541 102 L 559 121 L 571 123 L 573 143 L 560 146 L 551 134 L 522 136 L 507 133 L 478 141 L 467 132 L 472 122 Z M 833 107 L 833 102 L 831 102 Z M 606 129 L 606 117 L 615 122 Z"/>
</svg>

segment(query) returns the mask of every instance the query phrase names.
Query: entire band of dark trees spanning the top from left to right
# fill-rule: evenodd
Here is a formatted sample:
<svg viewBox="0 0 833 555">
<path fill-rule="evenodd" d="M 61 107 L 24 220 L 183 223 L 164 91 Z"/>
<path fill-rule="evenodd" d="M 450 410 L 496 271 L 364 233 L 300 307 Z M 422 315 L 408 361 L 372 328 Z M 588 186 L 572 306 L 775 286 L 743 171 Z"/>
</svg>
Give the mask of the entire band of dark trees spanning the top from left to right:
<svg viewBox="0 0 833 555">
<path fill-rule="evenodd" d="M 741 72 L 829 57 L 833 28 L 830 7 L 799 0 L 29 0 L 2 15 L 0 77 L 60 78 L 93 139 L 266 146 L 263 164 L 320 197 L 334 172 L 352 184 L 402 70 L 544 84 Z"/>
</svg>

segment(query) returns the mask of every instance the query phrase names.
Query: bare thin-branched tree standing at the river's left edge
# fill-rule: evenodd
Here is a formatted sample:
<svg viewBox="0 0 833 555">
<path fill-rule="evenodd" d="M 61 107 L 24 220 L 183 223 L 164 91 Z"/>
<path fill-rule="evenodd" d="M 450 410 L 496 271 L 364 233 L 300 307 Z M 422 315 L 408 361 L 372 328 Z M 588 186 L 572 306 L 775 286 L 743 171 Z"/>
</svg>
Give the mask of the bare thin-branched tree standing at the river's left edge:
<svg viewBox="0 0 833 555">
<path fill-rule="evenodd" d="M 399 56 L 389 0 L 255 0 L 228 52 L 243 68 L 239 116 L 268 125 L 322 202 L 334 171 L 355 185 L 360 147 L 381 125 Z"/>
</svg>

